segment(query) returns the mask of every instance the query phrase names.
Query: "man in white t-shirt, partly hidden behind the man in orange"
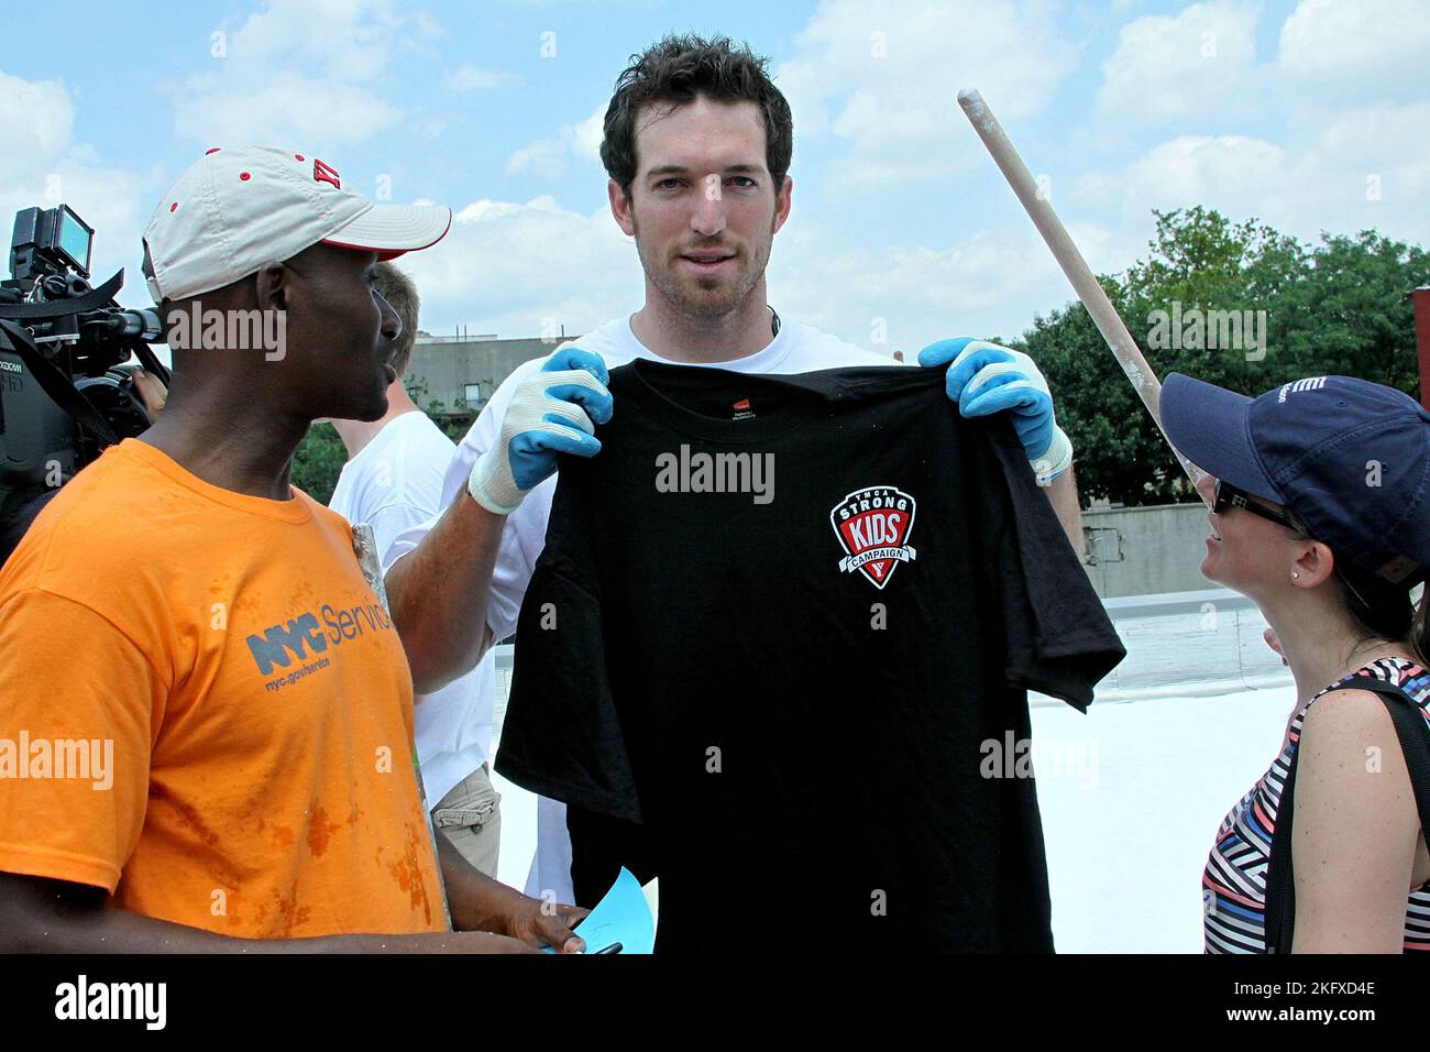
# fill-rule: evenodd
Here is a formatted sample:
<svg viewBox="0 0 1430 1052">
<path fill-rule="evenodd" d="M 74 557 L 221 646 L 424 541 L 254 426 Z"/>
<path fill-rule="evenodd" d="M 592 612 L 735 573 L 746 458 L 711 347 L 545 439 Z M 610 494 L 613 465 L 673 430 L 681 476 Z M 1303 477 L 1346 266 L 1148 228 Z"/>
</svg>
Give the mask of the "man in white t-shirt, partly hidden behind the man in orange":
<svg viewBox="0 0 1430 1052">
<path fill-rule="evenodd" d="M 403 374 L 418 341 L 418 289 L 392 263 L 378 263 L 373 288 L 402 319 L 392 355 L 398 378 L 388 386 L 388 412 L 376 421 L 332 421 L 347 448 L 347 464 L 327 507 L 349 522 L 366 522 L 386 560 L 393 540 L 445 505 L 442 474 L 456 445 L 408 395 Z M 492 739 L 496 651 L 470 673 L 430 694 L 413 711 L 418 764 L 433 826 L 476 869 L 496 876 L 500 796 L 492 789 L 486 750 Z"/>
</svg>

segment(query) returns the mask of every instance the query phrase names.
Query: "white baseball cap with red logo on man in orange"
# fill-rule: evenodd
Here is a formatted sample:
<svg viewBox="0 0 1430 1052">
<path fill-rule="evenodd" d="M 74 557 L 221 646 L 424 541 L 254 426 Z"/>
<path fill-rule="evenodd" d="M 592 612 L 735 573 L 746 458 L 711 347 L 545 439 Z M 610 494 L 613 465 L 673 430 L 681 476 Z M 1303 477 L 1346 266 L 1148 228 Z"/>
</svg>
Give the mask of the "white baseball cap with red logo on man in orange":
<svg viewBox="0 0 1430 1052">
<path fill-rule="evenodd" d="M 154 302 L 247 278 L 319 242 L 395 259 L 436 245 L 445 205 L 375 205 L 329 165 L 276 146 L 214 147 L 169 187 L 144 229 Z"/>
</svg>

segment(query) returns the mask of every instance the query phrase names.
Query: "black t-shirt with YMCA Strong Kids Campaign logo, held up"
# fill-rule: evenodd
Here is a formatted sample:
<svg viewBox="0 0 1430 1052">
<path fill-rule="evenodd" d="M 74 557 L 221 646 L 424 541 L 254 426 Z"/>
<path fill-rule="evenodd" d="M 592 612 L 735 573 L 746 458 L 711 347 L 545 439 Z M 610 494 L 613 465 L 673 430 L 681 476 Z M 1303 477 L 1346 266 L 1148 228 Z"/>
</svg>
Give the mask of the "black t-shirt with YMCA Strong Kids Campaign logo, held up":
<svg viewBox="0 0 1430 1052">
<path fill-rule="evenodd" d="M 1002 751 L 1027 688 L 1085 708 L 1124 651 L 1010 422 L 962 419 L 941 369 L 609 386 L 496 759 L 568 803 L 578 900 L 659 875 L 661 952 L 1051 950 Z"/>
</svg>

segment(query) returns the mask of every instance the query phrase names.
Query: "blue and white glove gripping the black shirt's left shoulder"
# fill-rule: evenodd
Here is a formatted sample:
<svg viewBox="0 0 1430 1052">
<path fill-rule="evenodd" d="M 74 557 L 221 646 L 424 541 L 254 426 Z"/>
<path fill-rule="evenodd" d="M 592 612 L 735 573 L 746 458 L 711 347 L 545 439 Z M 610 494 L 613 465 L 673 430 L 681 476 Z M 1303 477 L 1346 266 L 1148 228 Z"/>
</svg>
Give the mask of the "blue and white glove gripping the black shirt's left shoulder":
<svg viewBox="0 0 1430 1052">
<path fill-rule="evenodd" d="M 573 344 L 556 349 L 523 379 L 502 417 L 496 444 L 482 454 L 466 490 L 490 512 L 508 515 L 536 484 L 556 474 L 556 454 L 595 457 L 595 425 L 611 419 L 606 364 Z"/>
</svg>

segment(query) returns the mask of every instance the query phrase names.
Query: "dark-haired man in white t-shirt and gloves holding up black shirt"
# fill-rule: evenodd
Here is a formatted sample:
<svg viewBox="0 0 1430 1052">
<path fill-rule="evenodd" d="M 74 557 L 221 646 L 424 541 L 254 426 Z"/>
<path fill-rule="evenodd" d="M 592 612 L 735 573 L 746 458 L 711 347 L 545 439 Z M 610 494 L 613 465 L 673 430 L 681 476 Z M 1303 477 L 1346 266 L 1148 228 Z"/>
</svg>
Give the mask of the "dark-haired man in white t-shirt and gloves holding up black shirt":
<svg viewBox="0 0 1430 1052">
<path fill-rule="evenodd" d="M 556 454 L 599 451 L 593 424 L 611 419 L 609 368 L 632 358 L 769 374 L 901 368 L 782 321 L 766 302 L 765 265 L 789 216 L 792 120 L 765 66 L 729 40 L 668 37 L 618 79 L 601 159 L 611 212 L 645 271 L 645 305 L 519 366 L 458 447 L 445 511 L 393 544 L 388 595 L 419 690 L 470 668 L 515 627 L 545 544 Z M 961 338 L 925 348 L 919 365 L 948 366 L 964 415 L 1014 414 L 1081 551 L 1072 448 L 1032 361 Z M 541 803 L 538 837 L 528 889 L 563 899 L 571 849 L 559 804 Z"/>
</svg>

